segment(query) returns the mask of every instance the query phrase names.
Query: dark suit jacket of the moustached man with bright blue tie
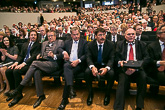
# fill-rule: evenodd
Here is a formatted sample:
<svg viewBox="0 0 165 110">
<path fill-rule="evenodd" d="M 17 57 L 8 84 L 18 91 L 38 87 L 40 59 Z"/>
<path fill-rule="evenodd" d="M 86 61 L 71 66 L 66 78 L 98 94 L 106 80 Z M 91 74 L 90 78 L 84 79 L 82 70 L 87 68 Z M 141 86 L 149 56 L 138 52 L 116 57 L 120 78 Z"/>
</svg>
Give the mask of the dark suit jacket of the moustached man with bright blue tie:
<svg viewBox="0 0 165 110">
<path fill-rule="evenodd" d="M 102 63 L 105 66 L 109 66 L 110 68 L 113 67 L 114 62 L 114 44 L 106 40 L 103 46 L 103 53 L 102 53 Z M 96 40 L 90 42 L 87 46 L 87 64 L 90 65 L 97 65 L 97 56 L 98 56 L 98 46 Z"/>
</svg>

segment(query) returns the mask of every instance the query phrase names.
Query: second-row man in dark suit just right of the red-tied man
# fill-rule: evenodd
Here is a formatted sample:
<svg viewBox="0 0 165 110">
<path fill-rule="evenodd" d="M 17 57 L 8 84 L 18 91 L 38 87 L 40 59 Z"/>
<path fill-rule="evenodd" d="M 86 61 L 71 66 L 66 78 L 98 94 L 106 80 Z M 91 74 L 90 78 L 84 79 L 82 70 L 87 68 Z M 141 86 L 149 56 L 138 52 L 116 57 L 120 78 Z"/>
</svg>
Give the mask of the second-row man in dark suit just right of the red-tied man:
<svg viewBox="0 0 165 110">
<path fill-rule="evenodd" d="M 148 38 L 147 35 L 142 35 L 142 26 L 141 26 L 141 24 L 136 24 L 134 26 L 134 30 L 136 31 L 136 37 L 135 37 L 136 40 L 149 41 L 149 38 Z"/>
</svg>

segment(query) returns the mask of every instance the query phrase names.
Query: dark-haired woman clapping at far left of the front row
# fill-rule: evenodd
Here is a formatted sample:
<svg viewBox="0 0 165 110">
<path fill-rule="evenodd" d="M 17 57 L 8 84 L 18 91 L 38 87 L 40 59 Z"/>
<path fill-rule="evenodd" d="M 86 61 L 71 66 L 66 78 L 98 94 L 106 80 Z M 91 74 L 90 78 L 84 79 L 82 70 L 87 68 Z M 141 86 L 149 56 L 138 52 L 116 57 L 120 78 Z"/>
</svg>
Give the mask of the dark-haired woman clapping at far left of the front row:
<svg viewBox="0 0 165 110">
<path fill-rule="evenodd" d="M 4 79 L 6 81 L 6 89 L 4 93 L 7 93 L 10 91 L 10 86 L 5 75 L 5 71 L 7 67 L 17 59 L 19 51 L 11 39 L 7 36 L 4 36 L 2 39 L 2 48 L 0 49 L 0 52 L 2 53 L 2 62 L 0 63 L 0 92 L 5 89 L 5 84 L 3 82 Z"/>
</svg>

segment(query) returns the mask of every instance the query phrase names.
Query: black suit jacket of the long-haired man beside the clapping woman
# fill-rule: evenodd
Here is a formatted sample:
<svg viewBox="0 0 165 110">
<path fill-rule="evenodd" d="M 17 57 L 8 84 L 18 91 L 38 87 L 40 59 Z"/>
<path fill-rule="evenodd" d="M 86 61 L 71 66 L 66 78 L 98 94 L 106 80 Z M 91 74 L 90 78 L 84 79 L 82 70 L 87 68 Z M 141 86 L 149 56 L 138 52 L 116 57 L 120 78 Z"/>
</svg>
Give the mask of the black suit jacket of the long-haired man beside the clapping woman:
<svg viewBox="0 0 165 110">
<path fill-rule="evenodd" d="M 28 45 L 29 45 L 29 42 L 25 42 L 22 45 L 21 53 L 19 54 L 19 56 L 16 60 L 16 62 L 18 62 L 19 64 L 22 63 L 24 61 L 24 58 L 26 57 Z M 27 65 L 30 65 L 33 62 L 33 60 L 36 59 L 36 56 L 40 53 L 40 50 L 41 50 L 41 44 L 38 42 L 35 42 L 30 49 L 31 57 L 29 59 L 27 59 L 25 63 Z"/>
</svg>

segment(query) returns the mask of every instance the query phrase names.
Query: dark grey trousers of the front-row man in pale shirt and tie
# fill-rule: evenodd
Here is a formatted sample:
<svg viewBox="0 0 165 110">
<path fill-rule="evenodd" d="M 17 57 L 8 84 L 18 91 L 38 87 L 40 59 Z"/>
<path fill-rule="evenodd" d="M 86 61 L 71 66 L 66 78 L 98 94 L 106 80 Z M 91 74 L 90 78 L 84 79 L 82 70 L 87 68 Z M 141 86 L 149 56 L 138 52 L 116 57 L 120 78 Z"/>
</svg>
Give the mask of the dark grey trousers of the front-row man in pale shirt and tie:
<svg viewBox="0 0 165 110">
<path fill-rule="evenodd" d="M 65 78 L 65 86 L 63 91 L 63 99 L 67 99 L 69 97 L 69 88 L 68 86 L 73 85 L 74 76 L 82 71 L 82 67 L 77 65 L 76 67 L 72 67 L 70 63 L 64 64 L 64 78 Z"/>
</svg>

